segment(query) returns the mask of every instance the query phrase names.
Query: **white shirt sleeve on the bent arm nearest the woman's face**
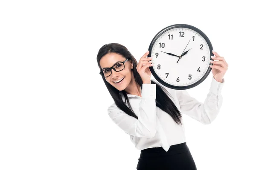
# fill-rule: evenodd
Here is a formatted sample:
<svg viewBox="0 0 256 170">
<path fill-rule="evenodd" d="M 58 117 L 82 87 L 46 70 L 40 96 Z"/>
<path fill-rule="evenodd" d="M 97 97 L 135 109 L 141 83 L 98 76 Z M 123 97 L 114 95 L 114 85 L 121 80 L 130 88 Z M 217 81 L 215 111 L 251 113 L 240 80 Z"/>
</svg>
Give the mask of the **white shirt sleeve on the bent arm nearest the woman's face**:
<svg viewBox="0 0 256 170">
<path fill-rule="evenodd" d="M 129 116 L 116 105 L 108 108 L 108 115 L 126 133 L 151 138 L 155 136 L 157 130 L 156 85 L 143 84 L 142 86 L 139 108 L 134 109 L 138 119 Z"/>
</svg>

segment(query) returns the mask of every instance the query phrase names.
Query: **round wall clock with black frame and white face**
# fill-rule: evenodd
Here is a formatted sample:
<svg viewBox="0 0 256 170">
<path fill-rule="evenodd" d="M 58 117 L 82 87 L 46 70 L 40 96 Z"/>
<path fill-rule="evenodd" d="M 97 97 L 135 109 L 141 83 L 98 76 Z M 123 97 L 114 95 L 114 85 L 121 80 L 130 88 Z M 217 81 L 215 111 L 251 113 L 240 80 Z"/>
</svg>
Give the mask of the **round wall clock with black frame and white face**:
<svg viewBox="0 0 256 170">
<path fill-rule="evenodd" d="M 212 68 L 209 65 L 212 44 L 198 28 L 175 24 L 163 28 L 149 45 L 149 67 L 154 78 L 162 85 L 185 90 L 199 85 Z"/>
</svg>

